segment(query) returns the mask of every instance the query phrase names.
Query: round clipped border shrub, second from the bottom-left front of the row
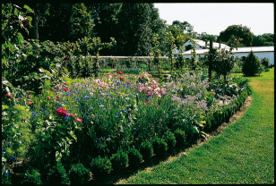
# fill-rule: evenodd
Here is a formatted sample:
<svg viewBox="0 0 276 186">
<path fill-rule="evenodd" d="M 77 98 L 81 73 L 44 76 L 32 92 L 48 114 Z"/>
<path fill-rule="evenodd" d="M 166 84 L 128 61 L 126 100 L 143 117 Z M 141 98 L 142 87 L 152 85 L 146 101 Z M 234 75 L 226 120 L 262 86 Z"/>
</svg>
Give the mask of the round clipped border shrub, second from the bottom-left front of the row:
<svg viewBox="0 0 276 186">
<path fill-rule="evenodd" d="M 111 162 L 108 157 L 95 157 L 91 160 L 91 172 L 94 179 L 105 178 L 111 171 Z"/>
</svg>

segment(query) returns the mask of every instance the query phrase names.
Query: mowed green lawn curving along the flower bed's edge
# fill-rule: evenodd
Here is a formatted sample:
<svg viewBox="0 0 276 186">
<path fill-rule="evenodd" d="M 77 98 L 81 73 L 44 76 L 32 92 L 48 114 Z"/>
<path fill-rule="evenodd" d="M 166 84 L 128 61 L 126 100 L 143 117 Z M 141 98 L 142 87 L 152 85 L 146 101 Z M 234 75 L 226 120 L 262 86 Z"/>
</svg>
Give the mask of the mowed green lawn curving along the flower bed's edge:
<svg viewBox="0 0 276 186">
<path fill-rule="evenodd" d="M 274 68 L 249 79 L 252 103 L 236 123 L 186 156 L 116 184 L 274 183 Z"/>
</svg>

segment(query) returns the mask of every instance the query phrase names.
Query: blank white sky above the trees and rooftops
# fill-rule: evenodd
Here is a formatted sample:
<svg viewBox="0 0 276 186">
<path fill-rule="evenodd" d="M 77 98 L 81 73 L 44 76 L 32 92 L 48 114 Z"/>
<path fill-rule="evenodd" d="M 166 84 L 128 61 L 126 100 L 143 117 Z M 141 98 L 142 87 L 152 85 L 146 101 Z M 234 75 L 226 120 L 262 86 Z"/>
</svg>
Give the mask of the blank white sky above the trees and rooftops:
<svg viewBox="0 0 276 186">
<path fill-rule="evenodd" d="M 231 25 L 246 26 L 254 35 L 274 34 L 274 4 L 272 3 L 220 3 L 154 4 L 160 19 L 171 25 L 173 21 L 187 21 L 201 34 L 220 35 Z"/>
</svg>

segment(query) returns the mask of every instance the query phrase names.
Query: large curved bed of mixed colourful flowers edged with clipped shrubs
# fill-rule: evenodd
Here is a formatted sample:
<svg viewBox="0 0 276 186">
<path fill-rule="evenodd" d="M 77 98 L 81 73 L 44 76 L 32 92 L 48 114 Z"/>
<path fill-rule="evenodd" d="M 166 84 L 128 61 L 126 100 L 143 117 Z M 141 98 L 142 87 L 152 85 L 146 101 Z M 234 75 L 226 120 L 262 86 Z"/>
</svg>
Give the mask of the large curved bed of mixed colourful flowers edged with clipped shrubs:
<svg viewBox="0 0 276 186">
<path fill-rule="evenodd" d="M 28 158 L 28 166 L 15 165 L 22 170 L 13 170 L 22 173 L 22 182 L 47 183 L 51 176 L 60 183 L 71 177 L 84 182 L 87 170 L 95 179 L 102 178 L 111 170 L 136 168 L 142 159 L 184 148 L 229 119 L 250 93 L 246 80 L 238 79 L 239 91 L 228 106 L 220 106 L 219 96 L 206 90 L 204 77 L 203 72 L 187 72 L 176 81 L 168 77 L 167 83 L 157 83 L 148 73 L 110 72 L 96 80 L 55 84 L 46 80 L 42 94 L 25 95 L 25 103 L 7 95 L 11 102 L 2 118 L 5 163 L 15 163 L 16 156 Z M 216 88 L 216 83 L 212 86 Z M 18 146 L 12 138 L 16 129 L 8 124 L 14 111 L 22 114 L 15 124 L 24 130 L 26 140 Z M 32 180 L 23 176 L 27 172 Z"/>
</svg>

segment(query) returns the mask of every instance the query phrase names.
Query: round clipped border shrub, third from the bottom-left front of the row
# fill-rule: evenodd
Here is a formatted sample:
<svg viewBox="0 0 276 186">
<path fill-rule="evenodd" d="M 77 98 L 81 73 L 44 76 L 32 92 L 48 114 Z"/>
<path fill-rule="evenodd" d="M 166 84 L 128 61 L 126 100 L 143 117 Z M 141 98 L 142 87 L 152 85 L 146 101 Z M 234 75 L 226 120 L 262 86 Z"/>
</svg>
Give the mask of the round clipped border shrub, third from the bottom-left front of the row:
<svg viewBox="0 0 276 186">
<path fill-rule="evenodd" d="M 110 157 L 110 162 L 112 164 L 113 171 L 121 171 L 125 169 L 125 166 L 128 164 L 127 153 L 119 149 L 116 154 Z"/>
</svg>

